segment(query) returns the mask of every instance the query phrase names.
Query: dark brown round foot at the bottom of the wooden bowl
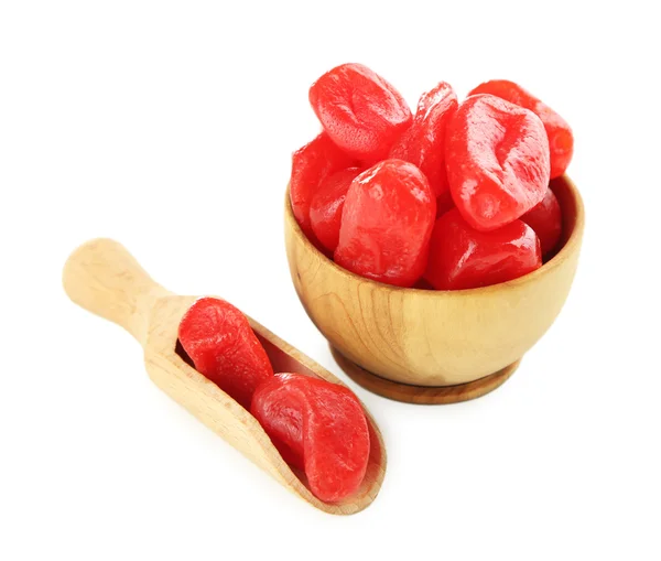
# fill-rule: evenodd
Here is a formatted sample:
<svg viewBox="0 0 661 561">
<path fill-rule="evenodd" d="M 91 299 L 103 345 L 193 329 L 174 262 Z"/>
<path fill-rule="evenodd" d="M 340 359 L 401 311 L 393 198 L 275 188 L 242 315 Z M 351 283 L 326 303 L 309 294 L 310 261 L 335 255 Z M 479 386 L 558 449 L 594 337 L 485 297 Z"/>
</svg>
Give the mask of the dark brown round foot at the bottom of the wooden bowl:
<svg viewBox="0 0 661 561">
<path fill-rule="evenodd" d="M 345 357 L 333 345 L 330 345 L 330 353 L 344 373 L 365 389 L 388 399 L 418 404 L 458 403 L 459 401 L 479 398 L 502 385 L 514 374 L 514 370 L 521 364 L 521 359 L 519 359 L 497 373 L 467 384 L 457 384 L 455 386 L 412 386 L 387 380 L 361 368 Z"/>
</svg>

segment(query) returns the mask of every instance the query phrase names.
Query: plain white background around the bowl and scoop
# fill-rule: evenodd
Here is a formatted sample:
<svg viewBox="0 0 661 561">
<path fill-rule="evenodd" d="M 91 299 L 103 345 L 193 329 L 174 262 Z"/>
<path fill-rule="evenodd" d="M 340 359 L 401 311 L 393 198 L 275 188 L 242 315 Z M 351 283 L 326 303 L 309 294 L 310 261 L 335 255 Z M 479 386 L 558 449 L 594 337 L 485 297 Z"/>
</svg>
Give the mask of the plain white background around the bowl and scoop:
<svg viewBox="0 0 661 561">
<path fill-rule="evenodd" d="M 652 2 L 592 4 L 0 2 L 0 559 L 660 559 L 661 44 Z M 563 313 L 496 392 L 416 407 L 349 382 L 389 465 L 332 517 L 161 393 L 61 270 L 117 238 L 339 374 L 282 209 L 307 88 L 344 62 L 412 106 L 441 79 L 537 93 L 574 128 L 587 229 Z"/>
</svg>

